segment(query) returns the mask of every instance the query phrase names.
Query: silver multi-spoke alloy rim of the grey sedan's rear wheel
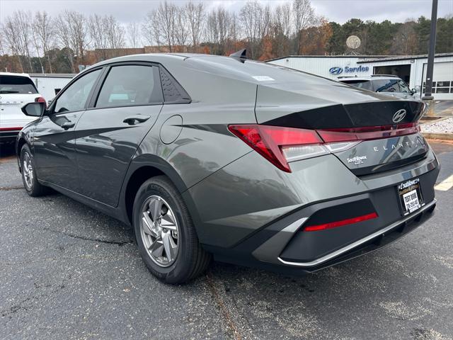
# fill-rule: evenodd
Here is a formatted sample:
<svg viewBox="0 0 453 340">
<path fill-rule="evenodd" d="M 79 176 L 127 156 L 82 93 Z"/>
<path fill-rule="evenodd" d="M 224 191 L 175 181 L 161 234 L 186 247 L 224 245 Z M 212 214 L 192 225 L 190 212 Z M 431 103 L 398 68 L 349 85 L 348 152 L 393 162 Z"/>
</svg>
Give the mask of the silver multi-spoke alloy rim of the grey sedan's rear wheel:
<svg viewBox="0 0 453 340">
<path fill-rule="evenodd" d="M 180 232 L 170 205 L 160 196 L 151 196 L 142 205 L 140 232 L 151 260 L 168 267 L 176 260 Z"/>
</svg>

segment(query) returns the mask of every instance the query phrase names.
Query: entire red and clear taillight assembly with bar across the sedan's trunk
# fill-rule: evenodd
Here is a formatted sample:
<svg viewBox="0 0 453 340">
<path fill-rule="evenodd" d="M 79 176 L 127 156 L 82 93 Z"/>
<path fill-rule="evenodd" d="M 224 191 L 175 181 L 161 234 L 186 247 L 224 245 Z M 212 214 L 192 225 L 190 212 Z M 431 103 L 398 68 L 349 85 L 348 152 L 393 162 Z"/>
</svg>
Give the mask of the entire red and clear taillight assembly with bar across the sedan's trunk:
<svg viewBox="0 0 453 340">
<path fill-rule="evenodd" d="M 278 169 L 286 172 L 291 172 L 288 163 L 299 159 L 341 152 L 363 140 L 420 132 L 418 123 L 324 130 L 244 124 L 229 125 L 228 129 Z"/>
</svg>

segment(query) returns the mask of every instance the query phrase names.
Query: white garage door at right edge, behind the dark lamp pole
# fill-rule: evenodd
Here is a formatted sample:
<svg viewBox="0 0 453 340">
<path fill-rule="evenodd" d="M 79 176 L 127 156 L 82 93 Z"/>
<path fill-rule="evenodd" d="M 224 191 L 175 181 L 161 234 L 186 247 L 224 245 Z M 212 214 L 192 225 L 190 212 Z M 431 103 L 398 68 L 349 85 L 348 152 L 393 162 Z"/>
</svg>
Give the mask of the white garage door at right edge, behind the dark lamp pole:
<svg viewBox="0 0 453 340">
<path fill-rule="evenodd" d="M 423 79 L 426 79 L 426 64 L 423 64 Z M 425 81 L 423 80 L 423 93 Z M 453 100 L 453 62 L 435 62 L 432 72 L 432 96 L 435 99 Z"/>
</svg>

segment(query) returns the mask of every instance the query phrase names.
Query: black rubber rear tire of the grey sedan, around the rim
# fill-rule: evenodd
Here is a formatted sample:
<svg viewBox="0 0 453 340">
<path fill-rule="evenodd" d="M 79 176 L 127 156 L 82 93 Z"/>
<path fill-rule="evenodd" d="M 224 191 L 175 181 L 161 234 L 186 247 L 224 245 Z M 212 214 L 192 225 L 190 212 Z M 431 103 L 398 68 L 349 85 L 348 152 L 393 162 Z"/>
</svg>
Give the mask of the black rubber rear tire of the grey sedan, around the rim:
<svg viewBox="0 0 453 340">
<path fill-rule="evenodd" d="M 151 196 L 160 196 L 168 203 L 179 227 L 178 254 L 174 262 L 167 267 L 159 266 L 151 259 L 142 237 L 142 208 Z M 149 271 L 159 280 L 171 284 L 185 283 L 200 276 L 209 266 L 211 255 L 202 249 L 188 208 L 168 177 L 156 176 L 140 186 L 134 200 L 133 222 L 140 255 Z"/>
</svg>

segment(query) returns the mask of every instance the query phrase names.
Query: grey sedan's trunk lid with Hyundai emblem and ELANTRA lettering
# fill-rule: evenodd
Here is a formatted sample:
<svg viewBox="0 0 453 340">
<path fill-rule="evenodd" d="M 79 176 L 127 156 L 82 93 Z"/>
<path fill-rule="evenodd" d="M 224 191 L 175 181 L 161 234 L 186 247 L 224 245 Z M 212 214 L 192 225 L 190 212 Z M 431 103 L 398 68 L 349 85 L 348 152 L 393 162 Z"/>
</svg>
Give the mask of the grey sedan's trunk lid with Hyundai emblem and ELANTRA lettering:
<svg viewBox="0 0 453 340">
<path fill-rule="evenodd" d="M 357 136 L 358 141 L 361 134 L 355 131 L 360 128 L 385 130 L 376 139 L 365 138 L 350 149 L 333 152 L 356 176 L 389 171 L 425 157 L 429 147 L 418 128 L 411 134 L 394 136 L 393 133 L 403 125 L 417 122 L 425 110 L 424 103 L 322 80 L 322 86 L 316 79 L 308 84 L 258 85 L 257 122 L 318 130 L 321 137 L 322 131 L 337 129 Z"/>
</svg>

